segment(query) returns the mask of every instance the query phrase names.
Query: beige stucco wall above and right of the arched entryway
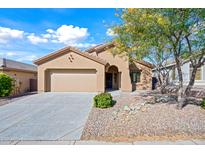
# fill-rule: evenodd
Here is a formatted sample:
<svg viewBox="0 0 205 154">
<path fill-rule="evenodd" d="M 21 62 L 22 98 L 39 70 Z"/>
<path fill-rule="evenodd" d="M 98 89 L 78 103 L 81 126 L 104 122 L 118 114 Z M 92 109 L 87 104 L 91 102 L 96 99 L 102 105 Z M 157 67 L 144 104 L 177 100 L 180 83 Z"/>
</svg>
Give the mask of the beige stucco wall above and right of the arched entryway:
<svg viewBox="0 0 205 154">
<path fill-rule="evenodd" d="M 118 68 L 120 72 L 119 81 L 120 81 L 120 90 L 122 91 L 132 91 L 132 84 L 130 79 L 130 71 L 129 71 L 129 62 L 126 56 L 114 56 L 111 53 L 112 49 L 106 50 L 100 53 L 92 53 L 93 55 L 97 55 L 102 59 L 105 59 L 110 66 L 114 65 Z"/>
</svg>

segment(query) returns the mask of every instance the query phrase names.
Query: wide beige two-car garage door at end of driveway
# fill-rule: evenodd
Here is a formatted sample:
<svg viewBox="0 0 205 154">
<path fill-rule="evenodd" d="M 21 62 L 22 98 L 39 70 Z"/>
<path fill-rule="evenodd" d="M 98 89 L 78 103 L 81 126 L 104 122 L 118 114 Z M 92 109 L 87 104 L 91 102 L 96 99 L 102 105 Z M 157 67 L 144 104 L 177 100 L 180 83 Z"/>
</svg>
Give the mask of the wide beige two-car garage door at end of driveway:
<svg viewBox="0 0 205 154">
<path fill-rule="evenodd" d="M 50 91 L 52 92 L 95 92 L 97 90 L 96 70 L 50 70 Z"/>
</svg>

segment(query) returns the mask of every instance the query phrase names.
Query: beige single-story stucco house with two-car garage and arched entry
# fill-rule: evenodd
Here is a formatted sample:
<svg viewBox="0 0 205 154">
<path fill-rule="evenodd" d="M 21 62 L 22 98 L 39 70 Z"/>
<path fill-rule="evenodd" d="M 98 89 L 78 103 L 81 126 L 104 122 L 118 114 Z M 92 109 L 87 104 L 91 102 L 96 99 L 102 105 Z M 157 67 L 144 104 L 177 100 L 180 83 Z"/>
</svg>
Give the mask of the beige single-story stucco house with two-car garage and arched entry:
<svg viewBox="0 0 205 154">
<path fill-rule="evenodd" d="M 38 65 L 38 91 L 151 89 L 152 65 L 144 61 L 130 63 L 127 57 L 114 56 L 113 48 L 112 43 L 83 52 L 66 47 L 34 61 Z"/>
</svg>

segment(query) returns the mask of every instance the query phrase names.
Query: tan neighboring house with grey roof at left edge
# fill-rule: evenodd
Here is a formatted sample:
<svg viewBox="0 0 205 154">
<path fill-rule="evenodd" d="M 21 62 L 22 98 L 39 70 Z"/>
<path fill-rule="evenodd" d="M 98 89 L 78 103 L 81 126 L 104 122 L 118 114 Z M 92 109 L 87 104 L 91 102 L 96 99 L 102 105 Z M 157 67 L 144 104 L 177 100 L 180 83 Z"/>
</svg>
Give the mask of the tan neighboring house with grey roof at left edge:
<svg viewBox="0 0 205 154">
<path fill-rule="evenodd" d="M 0 58 L 0 72 L 14 79 L 13 95 L 37 90 L 37 67 L 5 58 Z"/>
</svg>

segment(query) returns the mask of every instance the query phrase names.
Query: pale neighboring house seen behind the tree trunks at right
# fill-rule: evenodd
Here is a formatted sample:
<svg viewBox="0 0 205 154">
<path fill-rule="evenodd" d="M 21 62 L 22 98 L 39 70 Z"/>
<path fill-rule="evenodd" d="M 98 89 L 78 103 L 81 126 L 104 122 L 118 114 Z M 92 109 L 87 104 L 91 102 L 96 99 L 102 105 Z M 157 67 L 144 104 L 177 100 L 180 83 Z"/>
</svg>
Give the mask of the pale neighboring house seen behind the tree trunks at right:
<svg viewBox="0 0 205 154">
<path fill-rule="evenodd" d="M 179 79 L 178 79 L 178 72 L 177 72 L 177 68 L 175 67 L 175 63 L 167 65 L 166 69 L 169 70 L 169 83 L 172 85 L 177 85 Z M 189 60 L 184 61 L 182 65 L 184 85 L 187 85 L 189 83 L 191 72 L 192 72 L 191 62 Z M 155 69 L 153 69 L 153 76 L 157 77 Z M 205 86 L 205 64 L 197 69 L 194 85 L 198 87 Z"/>
</svg>

